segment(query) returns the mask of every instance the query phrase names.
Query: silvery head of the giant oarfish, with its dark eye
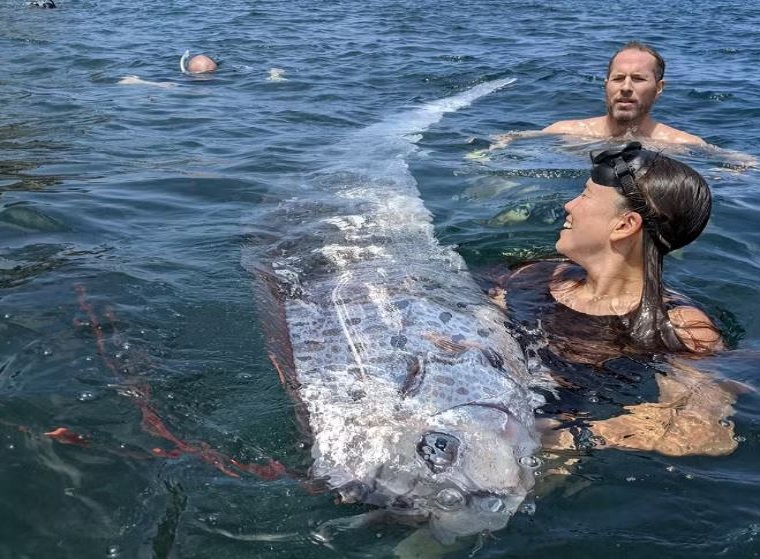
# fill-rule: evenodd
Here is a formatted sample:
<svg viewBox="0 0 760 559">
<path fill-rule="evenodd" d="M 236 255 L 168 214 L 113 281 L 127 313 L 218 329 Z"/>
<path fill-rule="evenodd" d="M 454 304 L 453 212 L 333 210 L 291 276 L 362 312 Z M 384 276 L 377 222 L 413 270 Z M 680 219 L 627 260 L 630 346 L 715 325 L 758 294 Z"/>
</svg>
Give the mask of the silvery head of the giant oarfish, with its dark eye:
<svg viewBox="0 0 760 559">
<path fill-rule="evenodd" d="M 535 483 L 532 429 L 500 406 L 464 405 L 427 418 L 394 441 L 393 458 L 341 495 L 427 521 L 443 544 L 504 528 Z M 407 422 L 406 426 L 409 427 Z"/>
</svg>

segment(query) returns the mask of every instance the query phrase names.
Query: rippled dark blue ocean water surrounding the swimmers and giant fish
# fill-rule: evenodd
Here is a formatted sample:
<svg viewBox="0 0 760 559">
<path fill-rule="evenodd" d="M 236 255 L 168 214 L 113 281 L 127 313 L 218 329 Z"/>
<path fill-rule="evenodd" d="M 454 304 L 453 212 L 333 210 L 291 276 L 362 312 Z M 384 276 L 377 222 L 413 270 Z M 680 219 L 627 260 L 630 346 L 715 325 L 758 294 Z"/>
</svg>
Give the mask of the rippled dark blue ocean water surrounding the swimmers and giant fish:
<svg viewBox="0 0 760 559">
<path fill-rule="evenodd" d="M 516 78 L 403 154 L 440 242 L 473 270 L 551 254 L 588 146 L 472 152 L 601 114 L 607 59 L 627 40 L 667 61 L 658 119 L 760 157 L 751 3 L 58 5 L 0 5 L 2 558 L 392 556 L 409 528 L 324 541 L 321 525 L 365 509 L 244 466 L 307 461 L 241 249 L 287 235 L 271 210 L 366 157 L 373 125 Z M 182 75 L 185 49 L 220 71 Z M 169 85 L 120 84 L 128 75 Z M 695 366 L 756 390 L 760 177 L 722 154 L 678 156 L 708 178 L 714 211 L 667 279 L 730 345 Z M 474 556 L 758 557 L 759 404 L 739 395 L 730 456 L 595 452 L 532 514 L 448 556 L 482 543 Z"/>
</svg>

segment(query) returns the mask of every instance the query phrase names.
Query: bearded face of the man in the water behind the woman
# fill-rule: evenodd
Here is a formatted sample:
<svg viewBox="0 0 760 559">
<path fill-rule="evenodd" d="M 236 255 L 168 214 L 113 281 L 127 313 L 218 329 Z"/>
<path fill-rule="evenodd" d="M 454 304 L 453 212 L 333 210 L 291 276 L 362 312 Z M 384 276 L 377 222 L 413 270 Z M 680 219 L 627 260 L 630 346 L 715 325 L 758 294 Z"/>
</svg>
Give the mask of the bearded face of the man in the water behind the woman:
<svg viewBox="0 0 760 559">
<path fill-rule="evenodd" d="M 624 50 L 612 61 L 605 91 L 607 113 L 617 122 L 639 123 L 652 110 L 664 85 L 654 68 L 654 56 L 636 49 Z"/>
</svg>

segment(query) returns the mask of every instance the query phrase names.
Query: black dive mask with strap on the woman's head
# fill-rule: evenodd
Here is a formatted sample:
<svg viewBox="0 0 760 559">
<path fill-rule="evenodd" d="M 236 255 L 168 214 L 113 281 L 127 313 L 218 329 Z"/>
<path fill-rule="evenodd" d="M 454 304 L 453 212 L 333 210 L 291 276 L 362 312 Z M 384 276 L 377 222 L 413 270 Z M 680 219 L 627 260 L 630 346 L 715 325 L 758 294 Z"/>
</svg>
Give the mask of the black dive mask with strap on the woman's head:
<svg viewBox="0 0 760 559">
<path fill-rule="evenodd" d="M 640 179 L 657 159 L 658 154 L 643 149 L 640 142 L 628 142 L 622 148 L 592 151 L 591 180 L 602 186 L 617 188 L 628 200 L 633 211 L 644 221 L 644 227 L 665 251 L 671 244 L 660 231 L 660 220 L 637 185 Z"/>
</svg>

